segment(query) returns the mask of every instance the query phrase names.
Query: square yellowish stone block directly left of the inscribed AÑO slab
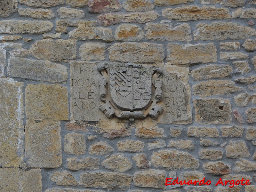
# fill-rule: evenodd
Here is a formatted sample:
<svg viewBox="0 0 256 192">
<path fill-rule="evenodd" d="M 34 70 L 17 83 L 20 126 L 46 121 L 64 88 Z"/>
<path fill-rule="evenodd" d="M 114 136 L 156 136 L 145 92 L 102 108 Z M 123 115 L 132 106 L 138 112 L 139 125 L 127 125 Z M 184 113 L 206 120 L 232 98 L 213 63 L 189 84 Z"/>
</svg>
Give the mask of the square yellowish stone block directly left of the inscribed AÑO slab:
<svg viewBox="0 0 256 192">
<path fill-rule="evenodd" d="M 68 91 L 57 84 L 28 84 L 25 90 L 28 120 L 68 120 Z"/>
</svg>

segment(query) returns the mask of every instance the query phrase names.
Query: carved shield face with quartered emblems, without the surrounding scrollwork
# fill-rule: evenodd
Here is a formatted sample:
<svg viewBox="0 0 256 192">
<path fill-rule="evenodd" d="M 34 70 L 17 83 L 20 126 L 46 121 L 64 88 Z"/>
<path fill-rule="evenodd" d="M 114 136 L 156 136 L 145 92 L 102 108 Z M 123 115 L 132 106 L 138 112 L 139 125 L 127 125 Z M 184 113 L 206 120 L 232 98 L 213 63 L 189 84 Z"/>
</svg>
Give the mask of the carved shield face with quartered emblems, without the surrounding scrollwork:
<svg viewBox="0 0 256 192">
<path fill-rule="evenodd" d="M 151 70 L 134 66 L 111 66 L 109 91 L 113 102 L 122 110 L 145 108 L 152 96 Z"/>
</svg>

